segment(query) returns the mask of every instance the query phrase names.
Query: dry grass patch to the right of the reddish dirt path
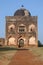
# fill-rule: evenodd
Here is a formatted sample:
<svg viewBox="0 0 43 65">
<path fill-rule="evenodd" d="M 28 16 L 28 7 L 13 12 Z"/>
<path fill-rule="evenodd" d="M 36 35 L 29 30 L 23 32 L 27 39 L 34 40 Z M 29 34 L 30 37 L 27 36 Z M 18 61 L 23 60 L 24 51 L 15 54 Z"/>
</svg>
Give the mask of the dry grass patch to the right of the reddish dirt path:
<svg viewBox="0 0 43 65">
<path fill-rule="evenodd" d="M 39 60 L 43 61 L 43 47 L 34 47 L 30 48 L 30 51 L 39 58 Z"/>
</svg>

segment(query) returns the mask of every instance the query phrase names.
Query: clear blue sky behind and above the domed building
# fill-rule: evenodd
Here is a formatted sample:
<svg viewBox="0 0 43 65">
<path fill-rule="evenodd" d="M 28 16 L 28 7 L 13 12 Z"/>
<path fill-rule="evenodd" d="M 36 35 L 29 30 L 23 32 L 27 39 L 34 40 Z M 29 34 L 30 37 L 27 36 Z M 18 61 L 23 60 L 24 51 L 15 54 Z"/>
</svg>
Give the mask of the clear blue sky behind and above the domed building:
<svg viewBox="0 0 43 65">
<path fill-rule="evenodd" d="M 21 5 L 38 16 L 38 39 L 43 43 L 43 0 L 0 0 L 0 37 L 5 37 L 5 16 L 13 16 Z"/>
</svg>

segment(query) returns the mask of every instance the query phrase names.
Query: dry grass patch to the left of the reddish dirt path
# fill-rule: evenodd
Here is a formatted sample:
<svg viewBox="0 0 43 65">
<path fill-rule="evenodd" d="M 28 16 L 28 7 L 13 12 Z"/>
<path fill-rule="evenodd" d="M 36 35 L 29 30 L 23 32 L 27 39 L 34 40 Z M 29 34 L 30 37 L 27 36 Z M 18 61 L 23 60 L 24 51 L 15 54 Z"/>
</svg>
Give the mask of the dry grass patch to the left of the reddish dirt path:
<svg viewBox="0 0 43 65">
<path fill-rule="evenodd" d="M 17 52 L 17 50 L 12 51 L 0 51 L 0 65 L 8 65 L 11 61 L 13 55 Z"/>
</svg>

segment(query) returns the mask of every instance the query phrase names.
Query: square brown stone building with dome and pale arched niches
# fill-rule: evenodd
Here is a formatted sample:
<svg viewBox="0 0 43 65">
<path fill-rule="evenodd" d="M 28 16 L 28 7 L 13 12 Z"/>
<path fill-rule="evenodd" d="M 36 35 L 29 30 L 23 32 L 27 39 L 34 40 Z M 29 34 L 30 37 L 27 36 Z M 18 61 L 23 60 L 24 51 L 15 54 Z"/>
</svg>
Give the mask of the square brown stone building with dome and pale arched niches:
<svg viewBox="0 0 43 65">
<path fill-rule="evenodd" d="M 26 9 L 19 9 L 14 16 L 6 16 L 5 45 L 18 47 L 38 45 L 37 16 Z"/>
</svg>

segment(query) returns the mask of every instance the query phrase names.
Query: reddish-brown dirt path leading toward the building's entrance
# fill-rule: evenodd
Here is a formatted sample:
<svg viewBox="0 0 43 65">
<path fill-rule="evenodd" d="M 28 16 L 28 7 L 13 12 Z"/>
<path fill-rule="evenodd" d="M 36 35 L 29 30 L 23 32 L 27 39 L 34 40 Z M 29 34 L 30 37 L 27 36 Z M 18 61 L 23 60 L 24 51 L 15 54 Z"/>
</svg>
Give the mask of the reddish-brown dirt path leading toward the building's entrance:
<svg viewBox="0 0 43 65">
<path fill-rule="evenodd" d="M 29 50 L 19 50 L 9 65 L 43 65 Z"/>
</svg>

